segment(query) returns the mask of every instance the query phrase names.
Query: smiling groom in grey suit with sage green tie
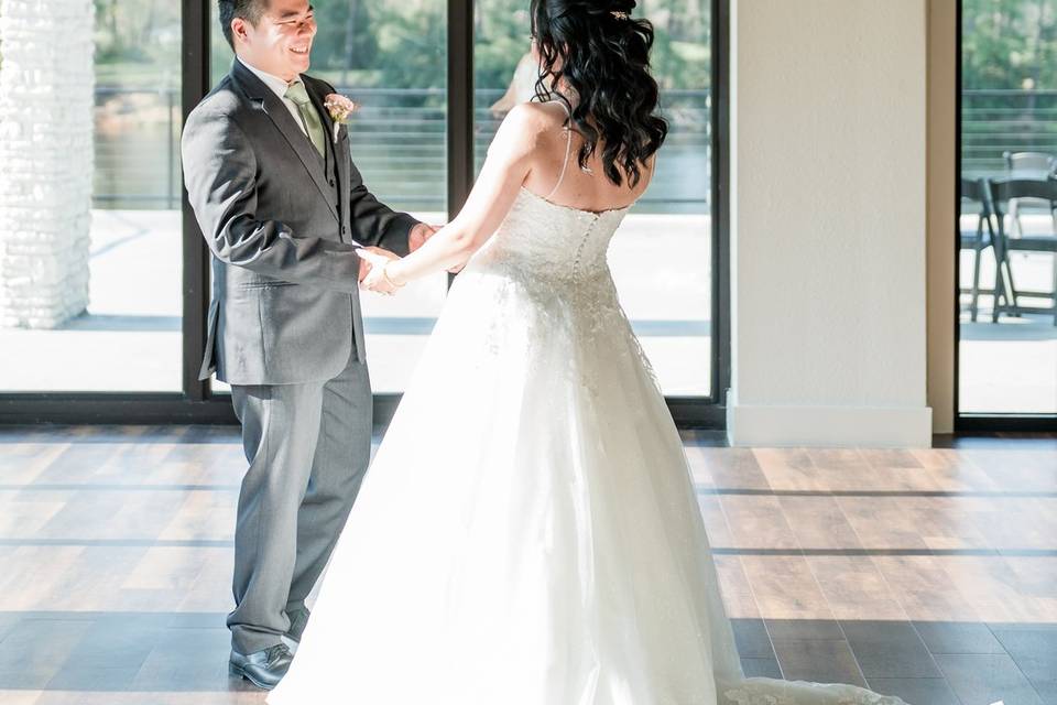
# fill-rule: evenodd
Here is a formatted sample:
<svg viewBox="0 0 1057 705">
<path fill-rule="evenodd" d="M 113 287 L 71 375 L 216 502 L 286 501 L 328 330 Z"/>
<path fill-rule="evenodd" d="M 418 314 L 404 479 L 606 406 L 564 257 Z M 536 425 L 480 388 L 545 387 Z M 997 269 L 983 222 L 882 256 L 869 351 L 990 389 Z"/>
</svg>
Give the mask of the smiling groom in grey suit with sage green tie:
<svg viewBox="0 0 1057 705">
<path fill-rule="evenodd" d="M 231 386 L 249 469 L 235 535 L 230 669 L 260 687 L 290 665 L 367 470 L 372 398 L 358 247 L 406 254 L 434 229 L 379 203 L 303 75 L 307 0 L 219 0 L 231 73 L 190 113 L 184 175 L 213 251 L 200 378 Z M 384 248 L 384 249 L 381 249 Z"/>
</svg>

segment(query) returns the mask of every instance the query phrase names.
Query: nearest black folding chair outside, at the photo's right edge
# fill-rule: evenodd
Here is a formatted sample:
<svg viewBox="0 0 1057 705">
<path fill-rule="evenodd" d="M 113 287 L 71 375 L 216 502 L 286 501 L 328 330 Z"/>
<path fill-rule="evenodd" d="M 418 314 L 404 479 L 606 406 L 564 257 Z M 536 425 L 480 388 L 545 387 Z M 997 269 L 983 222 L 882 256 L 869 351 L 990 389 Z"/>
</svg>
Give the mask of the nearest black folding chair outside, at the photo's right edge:
<svg viewBox="0 0 1057 705">
<path fill-rule="evenodd" d="M 1009 252 L 1050 252 L 1057 258 L 1057 178 L 1011 178 L 994 181 L 991 182 L 990 191 L 994 207 L 994 219 L 998 225 L 995 246 L 1002 250 L 1003 257 L 1007 257 Z M 1022 234 L 1018 238 L 1011 238 L 1006 235 L 1004 214 L 1007 213 L 1010 202 L 1017 198 L 1035 198 L 1049 204 L 1050 221 L 1053 225 L 1048 234 Z M 1053 305 L 1048 308 L 1022 306 L 1017 302 L 1018 296 L 1049 299 Z M 1055 262 L 1054 265 L 1054 283 L 1050 291 L 1014 291 L 1012 301 L 1014 311 L 1053 313 L 1054 325 L 1057 326 L 1057 262 Z"/>
</svg>

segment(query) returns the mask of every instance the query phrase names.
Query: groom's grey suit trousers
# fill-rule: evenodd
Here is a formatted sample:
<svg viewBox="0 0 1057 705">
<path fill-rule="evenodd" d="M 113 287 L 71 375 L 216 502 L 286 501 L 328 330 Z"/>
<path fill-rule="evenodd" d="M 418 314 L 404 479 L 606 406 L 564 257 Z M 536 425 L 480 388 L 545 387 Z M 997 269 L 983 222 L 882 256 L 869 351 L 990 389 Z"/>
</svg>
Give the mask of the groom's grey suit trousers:
<svg viewBox="0 0 1057 705">
<path fill-rule="evenodd" d="M 350 356 L 335 378 L 231 387 L 249 469 L 235 535 L 231 647 L 243 654 L 304 629 L 312 592 L 371 455 L 367 365 Z"/>
</svg>

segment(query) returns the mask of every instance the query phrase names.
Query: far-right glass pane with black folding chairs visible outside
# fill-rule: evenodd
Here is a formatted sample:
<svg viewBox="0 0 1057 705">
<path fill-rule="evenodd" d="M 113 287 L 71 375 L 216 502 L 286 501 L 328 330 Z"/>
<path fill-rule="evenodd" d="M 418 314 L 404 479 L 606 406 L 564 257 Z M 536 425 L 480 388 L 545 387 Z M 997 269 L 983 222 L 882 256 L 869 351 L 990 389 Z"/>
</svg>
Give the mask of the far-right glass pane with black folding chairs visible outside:
<svg viewBox="0 0 1057 705">
<path fill-rule="evenodd" d="M 959 412 L 1054 414 L 1057 0 L 963 0 L 961 32 Z"/>
</svg>

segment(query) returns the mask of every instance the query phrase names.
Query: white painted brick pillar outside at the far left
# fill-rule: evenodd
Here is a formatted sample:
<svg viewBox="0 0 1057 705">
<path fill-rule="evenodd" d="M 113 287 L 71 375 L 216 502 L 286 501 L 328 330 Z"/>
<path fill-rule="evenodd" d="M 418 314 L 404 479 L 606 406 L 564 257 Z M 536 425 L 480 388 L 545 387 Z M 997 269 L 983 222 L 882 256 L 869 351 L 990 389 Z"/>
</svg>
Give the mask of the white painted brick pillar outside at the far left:
<svg viewBox="0 0 1057 705">
<path fill-rule="evenodd" d="M 0 0 L 0 326 L 88 305 L 91 0 Z"/>
</svg>

